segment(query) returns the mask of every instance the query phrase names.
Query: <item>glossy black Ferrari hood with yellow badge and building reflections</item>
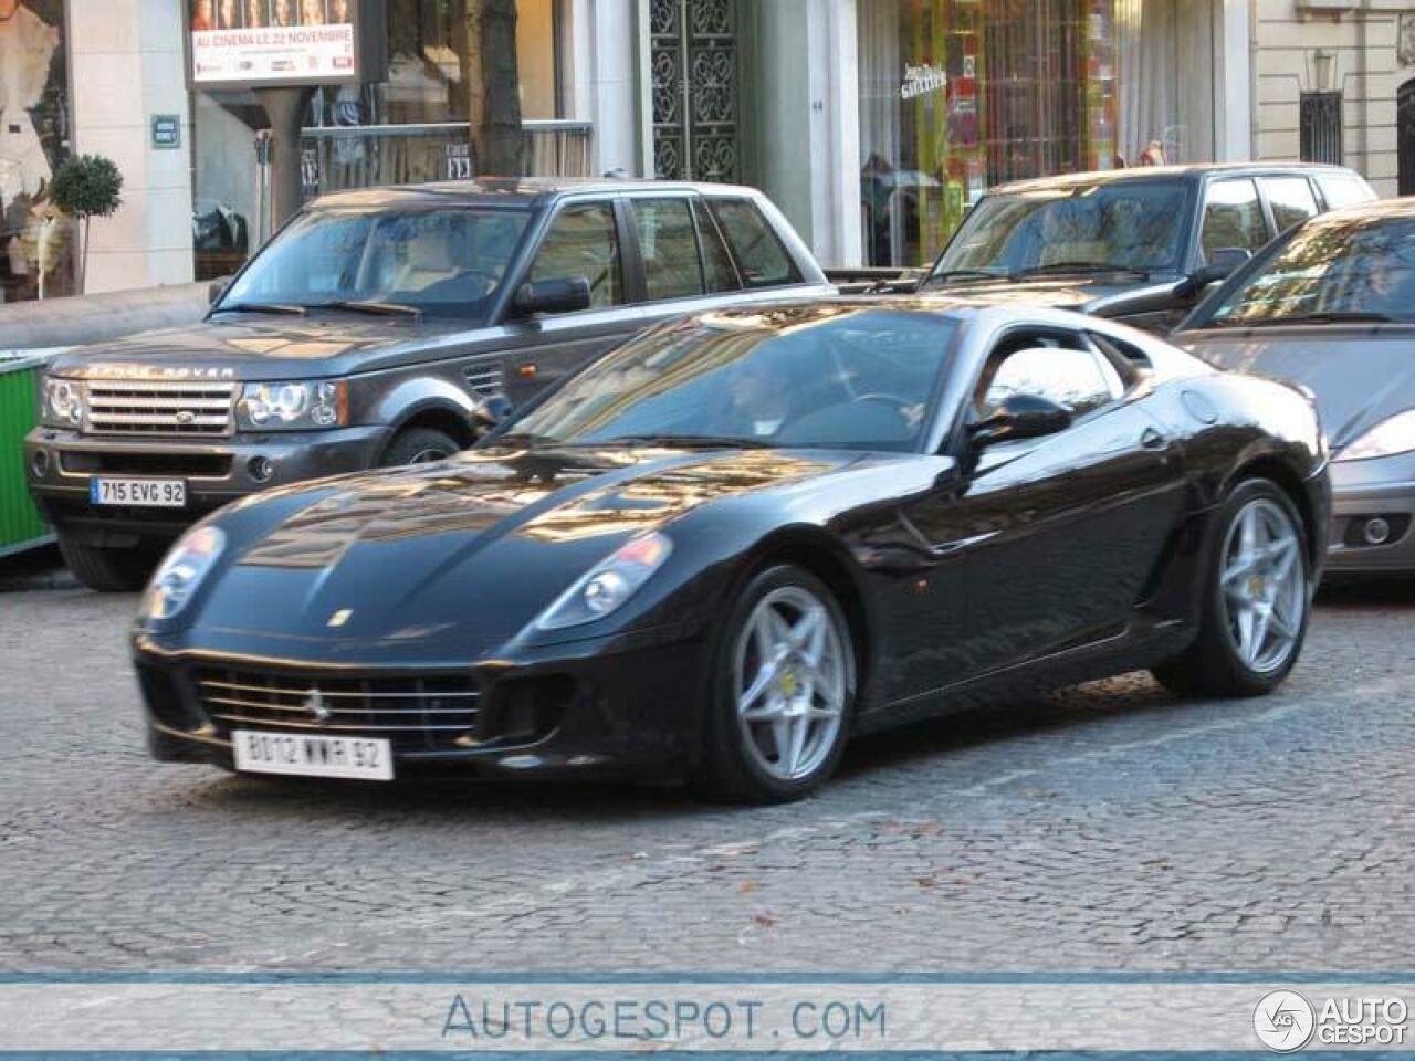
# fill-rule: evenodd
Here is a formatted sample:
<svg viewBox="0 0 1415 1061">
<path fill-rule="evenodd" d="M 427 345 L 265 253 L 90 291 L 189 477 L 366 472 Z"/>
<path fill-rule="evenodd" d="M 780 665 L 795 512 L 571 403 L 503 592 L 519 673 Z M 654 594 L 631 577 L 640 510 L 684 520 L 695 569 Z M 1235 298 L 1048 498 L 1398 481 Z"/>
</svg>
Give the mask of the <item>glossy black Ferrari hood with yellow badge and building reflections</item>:
<svg viewBox="0 0 1415 1061">
<path fill-rule="evenodd" d="M 272 498 L 289 515 L 258 535 L 241 530 L 262 504 L 232 512 L 232 553 L 200 624 L 325 655 L 335 642 L 443 638 L 488 651 L 633 535 L 849 463 L 818 451 L 488 448 L 313 484 Z"/>
</svg>

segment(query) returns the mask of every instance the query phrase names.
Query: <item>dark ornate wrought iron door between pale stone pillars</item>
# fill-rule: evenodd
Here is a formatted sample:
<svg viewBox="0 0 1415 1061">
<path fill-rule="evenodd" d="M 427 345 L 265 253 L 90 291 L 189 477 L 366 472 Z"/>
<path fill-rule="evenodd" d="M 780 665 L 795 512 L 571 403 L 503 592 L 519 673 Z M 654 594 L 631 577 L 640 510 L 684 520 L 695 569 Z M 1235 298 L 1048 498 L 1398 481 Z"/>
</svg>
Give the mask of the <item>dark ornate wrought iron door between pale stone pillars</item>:
<svg viewBox="0 0 1415 1061">
<path fill-rule="evenodd" d="M 649 0 L 654 171 L 737 180 L 737 3 Z"/>
</svg>

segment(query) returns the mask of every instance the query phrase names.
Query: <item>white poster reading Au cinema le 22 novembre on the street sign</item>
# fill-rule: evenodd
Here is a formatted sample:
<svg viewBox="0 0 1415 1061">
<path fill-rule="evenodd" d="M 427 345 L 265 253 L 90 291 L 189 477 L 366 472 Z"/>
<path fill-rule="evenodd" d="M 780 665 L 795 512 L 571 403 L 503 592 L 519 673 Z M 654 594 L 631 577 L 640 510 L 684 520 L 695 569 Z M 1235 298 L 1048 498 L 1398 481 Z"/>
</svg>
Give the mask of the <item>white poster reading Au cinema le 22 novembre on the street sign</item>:
<svg viewBox="0 0 1415 1061">
<path fill-rule="evenodd" d="M 190 0 L 198 88 L 354 81 L 354 0 Z"/>
</svg>

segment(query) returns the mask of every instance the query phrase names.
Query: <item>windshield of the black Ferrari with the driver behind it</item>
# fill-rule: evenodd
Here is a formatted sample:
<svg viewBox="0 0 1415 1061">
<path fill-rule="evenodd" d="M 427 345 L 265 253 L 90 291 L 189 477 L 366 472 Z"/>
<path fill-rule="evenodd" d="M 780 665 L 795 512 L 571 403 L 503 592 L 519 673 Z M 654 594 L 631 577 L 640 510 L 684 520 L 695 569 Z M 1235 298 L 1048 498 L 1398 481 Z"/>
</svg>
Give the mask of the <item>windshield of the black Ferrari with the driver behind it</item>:
<svg viewBox="0 0 1415 1061">
<path fill-rule="evenodd" d="M 699 317 L 591 365 L 505 437 L 910 451 L 955 330 L 935 313 L 876 306 Z"/>
</svg>

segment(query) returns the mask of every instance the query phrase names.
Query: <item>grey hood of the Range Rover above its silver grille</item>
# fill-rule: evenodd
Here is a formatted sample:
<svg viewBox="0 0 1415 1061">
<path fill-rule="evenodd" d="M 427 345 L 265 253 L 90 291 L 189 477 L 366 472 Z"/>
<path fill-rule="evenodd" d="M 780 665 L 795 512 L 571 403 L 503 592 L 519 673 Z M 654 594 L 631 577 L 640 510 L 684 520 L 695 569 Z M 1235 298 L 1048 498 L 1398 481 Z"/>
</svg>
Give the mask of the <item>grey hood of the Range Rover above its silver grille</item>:
<svg viewBox="0 0 1415 1061">
<path fill-rule="evenodd" d="M 398 356 L 426 345 L 449 323 L 403 318 L 231 315 L 147 331 L 61 354 L 51 373 L 100 378 L 262 381 L 342 375 L 378 351 Z"/>
</svg>

